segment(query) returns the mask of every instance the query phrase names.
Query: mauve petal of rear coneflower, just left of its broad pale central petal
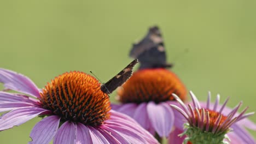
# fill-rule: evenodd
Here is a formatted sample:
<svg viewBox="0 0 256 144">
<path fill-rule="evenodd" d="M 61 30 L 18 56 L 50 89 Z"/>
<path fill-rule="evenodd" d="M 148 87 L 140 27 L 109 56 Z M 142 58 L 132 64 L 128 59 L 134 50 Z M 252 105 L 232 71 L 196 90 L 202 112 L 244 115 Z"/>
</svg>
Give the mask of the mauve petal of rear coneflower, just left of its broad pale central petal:
<svg viewBox="0 0 256 144">
<path fill-rule="evenodd" d="M 147 103 L 139 104 L 136 111 L 134 112 L 133 119 L 141 124 L 141 126 L 146 130 L 152 128 L 152 124 L 150 123 L 148 117 Z"/>
</svg>

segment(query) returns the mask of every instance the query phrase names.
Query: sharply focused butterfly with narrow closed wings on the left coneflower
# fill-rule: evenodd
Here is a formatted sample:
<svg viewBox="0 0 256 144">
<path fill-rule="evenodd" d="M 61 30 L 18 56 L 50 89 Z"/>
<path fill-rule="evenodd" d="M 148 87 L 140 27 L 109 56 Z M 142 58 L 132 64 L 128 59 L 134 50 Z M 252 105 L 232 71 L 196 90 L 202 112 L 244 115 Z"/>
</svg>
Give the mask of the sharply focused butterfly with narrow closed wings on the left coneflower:
<svg viewBox="0 0 256 144">
<path fill-rule="evenodd" d="M 123 85 L 132 75 L 133 67 L 138 63 L 138 59 L 133 60 L 128 64 L 123 70 L 121 70 L 117 75 L 115 75 L 108 82 L 101 85 L 101 91 L 106 94 L 112 93 L 117 87 Z"/>
</svg>

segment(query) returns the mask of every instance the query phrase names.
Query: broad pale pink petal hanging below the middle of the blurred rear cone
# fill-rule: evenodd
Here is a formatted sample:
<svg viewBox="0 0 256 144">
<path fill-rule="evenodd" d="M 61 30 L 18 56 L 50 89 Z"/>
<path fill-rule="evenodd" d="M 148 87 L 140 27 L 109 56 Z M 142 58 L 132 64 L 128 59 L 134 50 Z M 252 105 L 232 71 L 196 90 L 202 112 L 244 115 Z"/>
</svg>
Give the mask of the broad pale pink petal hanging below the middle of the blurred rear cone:
<svg viewBox="0 0 256 144">
<path fill-rule="evenodd" d="M 147 106 L 147 110 L 149 119 L 159 136 L 168 137 L 174 123 L 174 114 L 171 107 L 166 103 L 156 105 L 150 102 Z"/>
</svg>

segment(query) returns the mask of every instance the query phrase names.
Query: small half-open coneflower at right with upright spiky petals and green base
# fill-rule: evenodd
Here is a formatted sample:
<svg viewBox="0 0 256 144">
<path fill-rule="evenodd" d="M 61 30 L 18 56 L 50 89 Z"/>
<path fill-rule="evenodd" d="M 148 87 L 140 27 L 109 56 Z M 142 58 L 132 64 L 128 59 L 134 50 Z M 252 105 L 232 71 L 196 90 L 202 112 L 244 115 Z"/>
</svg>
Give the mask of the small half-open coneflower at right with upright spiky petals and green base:
<svg viewBox="0 0 256 144">
<path fill-rule="evenodd" d="M 187 136 L 184 140 L 184 143 L 229 143 L 229 137 L 227 134 L 230 131 L 233 130 L 237 134 L 242 132 L 240 129 L 231 129 L 232 125 L 238 124 L 238 122 L 242 119 L 246 119 L 248 116 L 254 114 L 254 112 L 245 114 L 248 107 L 246 107 L 240 114 L 238 114 L 237 110 L 241 106 L 241 102 L 228 114 L 224 113 L 226 103 L 229 99 L 226 99 L 224 104 L 220 106 L 219 95 L 217 96 L 217 100 L 213 106 L 213 109 L 210 107 L 210 93 L 208 95 L 206 106 L 200 104 L 192 92 L 190 92 L 190 95 L 193 101 L 193 105 L 188 104 L 188 106 L 186 106 L 183 101 L 177 97 L 176 94 L 173 94 L 173 97 L 178 101 L 179 104 L 181 104 L 183 109 L 177 105 L 171 105 L 187 120 L 187 123 L 185 123 L 185 131 L 182 134 Z M 228 141 L 226 139 L 228 139 Z M 247 139 L 247 141 L 244 141 L 244 143 L 249 141 L 254 143 L 252 138 L 251 140 Z"/>
</svg>

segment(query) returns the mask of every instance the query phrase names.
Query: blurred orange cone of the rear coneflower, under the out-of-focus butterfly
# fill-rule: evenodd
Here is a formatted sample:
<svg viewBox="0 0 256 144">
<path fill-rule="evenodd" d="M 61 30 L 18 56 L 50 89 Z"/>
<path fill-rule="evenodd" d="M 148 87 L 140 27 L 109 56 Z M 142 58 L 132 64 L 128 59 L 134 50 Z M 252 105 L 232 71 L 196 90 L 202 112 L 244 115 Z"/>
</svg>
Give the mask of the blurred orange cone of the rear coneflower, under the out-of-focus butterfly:
<svg viewBox="0 0 256 144">
<path fill-rule="evenodd" d="M 174 100 L 172 93 L 186 99 L 187 90 L 174 73 L 162 68 L 143 69 L 133 73 L 123 88 L 118 89 L 118 100 L 121 103 L 160 103 Z"/>
</svg>

